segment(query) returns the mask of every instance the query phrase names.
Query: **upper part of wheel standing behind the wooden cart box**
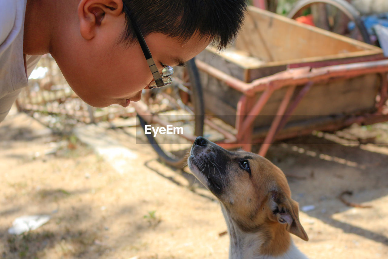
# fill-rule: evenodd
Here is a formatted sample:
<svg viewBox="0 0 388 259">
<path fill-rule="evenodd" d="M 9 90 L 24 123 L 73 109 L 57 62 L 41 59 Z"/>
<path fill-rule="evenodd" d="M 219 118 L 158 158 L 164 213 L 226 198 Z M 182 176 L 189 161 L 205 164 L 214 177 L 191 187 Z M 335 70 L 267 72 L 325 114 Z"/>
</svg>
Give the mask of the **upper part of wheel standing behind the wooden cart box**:
<svg viewBox="0 0 388 259">
<path fill-rule="evenodd" d="M 360 12 L 345 0 L 300 0 L 293 6 L 288 17 L 296 19 L 306 12 L 313 14 L 315 26 L 319 28 L 371 44 L 369 33 L 360 18 Z M 348 29 L 349 21 L 354 22 L 357 30 L 351 32 Z"/>
</svg>

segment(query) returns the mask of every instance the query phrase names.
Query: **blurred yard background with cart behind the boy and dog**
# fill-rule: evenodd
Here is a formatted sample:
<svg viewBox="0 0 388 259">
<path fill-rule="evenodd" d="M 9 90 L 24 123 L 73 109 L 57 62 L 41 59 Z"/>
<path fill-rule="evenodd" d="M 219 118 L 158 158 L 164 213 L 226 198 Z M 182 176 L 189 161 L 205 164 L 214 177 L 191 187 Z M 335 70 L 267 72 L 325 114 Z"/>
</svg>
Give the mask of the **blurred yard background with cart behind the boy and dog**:
<svg viewBox="0 0 388 259">
<path fill-rule="evenodd" d="M 171 87 L 127 108 L 88 106 L 42 56 L 0 124 L 2 258 L 227 258 L 218 201 L 184 163 L 192 138 L 149 138 L 150 121 L 223 145 L 241 140 L 279 166 L 310 241 L 293 239 L 309 258 L 388 257 L 388 2 L 250 3 L 230 49 L 209 47 L 175 69 Z M 241 82 L 231 87 L 225 73 Z M 241 131 L 249 116 L 239 101 L 262 92 L 236 89 L 252 82 L 280 90 Z"/>
</svg>

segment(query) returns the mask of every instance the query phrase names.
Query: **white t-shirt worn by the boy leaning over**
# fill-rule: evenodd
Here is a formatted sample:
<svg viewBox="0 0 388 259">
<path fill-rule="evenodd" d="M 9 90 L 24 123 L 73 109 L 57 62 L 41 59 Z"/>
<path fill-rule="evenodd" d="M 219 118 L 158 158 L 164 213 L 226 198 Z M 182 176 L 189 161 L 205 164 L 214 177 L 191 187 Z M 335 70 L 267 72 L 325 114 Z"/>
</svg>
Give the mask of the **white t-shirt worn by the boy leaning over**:
<svg viewBox="0 0 388 259">
<path fill-rule="evenodd" d="M 28 86 L 28 77 L 41 57 L 23 54 L 26 2 L 0 0 L 0 122 L 21 89 Z"/>
</svg>

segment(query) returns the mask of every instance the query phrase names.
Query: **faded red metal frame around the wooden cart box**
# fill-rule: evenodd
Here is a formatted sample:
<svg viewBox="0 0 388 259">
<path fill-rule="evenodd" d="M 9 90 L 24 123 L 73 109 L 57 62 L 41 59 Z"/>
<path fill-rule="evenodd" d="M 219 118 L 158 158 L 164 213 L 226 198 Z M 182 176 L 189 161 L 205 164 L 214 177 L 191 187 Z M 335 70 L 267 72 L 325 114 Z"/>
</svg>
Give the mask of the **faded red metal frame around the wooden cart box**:
<svg viewBox="0 0 388 259">
<path fill-rule="evenodd" d="M 368 61 L 361 63 L 351 63 L 343 65 L 326 66 L 321 68 L 301 67 L 289 69 L 284 72 L 276 73 L 274 75 L 256 79 L 251 83 L 243 82 L 235 77 L 232 77 L 217 68 L 214 68 L 203 61 L 196 60 L 196 65 L 199 70 L 208 73 L 210 76 L 217 78 L 228 86 L 240 91 L 244 95 L 237 103 L 237 119 L 236 119 L 236 142 L 225 143 L 217 142 L 224 148 L 242 147 L 246 151 L 251 151 L 252 144 L 262 143 L 259 154 L 265 156 L 271 143 L 275 139 L 295 137 L 312 132 L 313 130 L 336 130 L 341 127 L 349 126 L 352 123 L 372 123 L 388 120 L 386 117 L 376 117 L 375 115 L 383 115 L 383 106 L 388 100 L 388 60 Z M 341 123 L 329 123 L 322 125 L 320 128 L 306 129 L 303 131 L 286 133 L 286 135 L 279 135 L 288 117 L 292 114 L 298 103 L 303 99 L 310 87 L 319 82 L 328 82 L 331 80 L 348 79 L 369 73 L 379 73 L 381 75 L 380 100 L 376 104 L 377 111 L 374 114 L 367 114 L 362 116 L 354 116 Z M 298 85 L 305 85 L 301 91 L 296 95 L 291 105 L 289 102 L 293 96 L 294 90 Z M 278 108 L 274 121 L 264 139 L 253 139 L 253 122 L 260 114 L 263 107 L 267 103 L 270 96 L 275 90 L 282 87 L 287 87 L 287 91 L 281 105 Z M 252 97 L 255 94 L 262 92 L 260 98 L 256 103 L 252 102 Z M 251 105 L 249 105 L 251 104 Z"/>
</svg>

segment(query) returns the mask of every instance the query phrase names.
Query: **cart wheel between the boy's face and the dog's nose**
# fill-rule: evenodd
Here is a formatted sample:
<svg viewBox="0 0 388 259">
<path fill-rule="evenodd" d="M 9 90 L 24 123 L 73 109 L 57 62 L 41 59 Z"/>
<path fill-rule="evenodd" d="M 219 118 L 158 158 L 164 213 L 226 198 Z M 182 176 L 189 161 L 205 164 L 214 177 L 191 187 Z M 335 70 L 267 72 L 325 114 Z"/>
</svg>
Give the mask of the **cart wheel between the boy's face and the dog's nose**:
<svg viewBox="0 0 388 259">
<path fill-rule="evenodd" d="M 142 100 L 146 103 L 152 117 L 158 117 L 173 127 L 184 128 L 185 135 L 193 138 L 202 136 L 204 125 L 204 103 L 199 73 L 194 59 L 186 62 L 185 67 L 174 67 L 170 86 L 146 91 Z M 145 130 L 147 118 L 137 115 Z M 158 120 L 152 119 L 152 126 L 157 127 Z M 163 125 L 164 126 L 164 125 Z M 146 135 L 148 141 L 167 165 L 182 167 L 186 163 L 192 141 L 175 135 Z"/>
</svg>

